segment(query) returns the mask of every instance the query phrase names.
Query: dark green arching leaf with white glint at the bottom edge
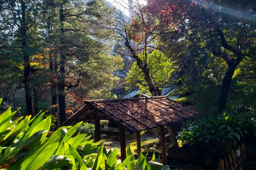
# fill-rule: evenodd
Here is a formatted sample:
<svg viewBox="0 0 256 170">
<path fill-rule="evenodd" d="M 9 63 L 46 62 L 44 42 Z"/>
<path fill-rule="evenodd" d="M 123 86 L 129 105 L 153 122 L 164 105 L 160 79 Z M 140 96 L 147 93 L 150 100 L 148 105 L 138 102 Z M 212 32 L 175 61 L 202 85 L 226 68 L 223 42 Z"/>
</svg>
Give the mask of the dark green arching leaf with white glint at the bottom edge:
<svg viewBox="0 0 256 170">
<path fill-rule="evenodd" d="M 71 159 L 68 159 L 63 155 L 52 155 L 46 161 L 46 163 L 42 166 L 42 169 L 48 169 L 48 170 L 57 169 L 65 164 L 67 164 L 70 161 L 71 161 Z"/>
</svg>

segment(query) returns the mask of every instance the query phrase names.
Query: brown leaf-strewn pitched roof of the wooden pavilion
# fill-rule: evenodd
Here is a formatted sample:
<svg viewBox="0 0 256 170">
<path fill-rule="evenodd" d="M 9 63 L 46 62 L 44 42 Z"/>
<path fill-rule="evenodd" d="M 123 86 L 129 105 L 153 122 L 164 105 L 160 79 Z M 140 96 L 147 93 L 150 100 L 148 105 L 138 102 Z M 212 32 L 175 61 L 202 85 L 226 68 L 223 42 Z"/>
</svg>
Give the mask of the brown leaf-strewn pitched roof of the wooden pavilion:
<svg viewBox="0 0 256 170">
<path fill-rule="evenodd" d="M 63 125 L 72 125 L 82 120 L 92 120 L 100 114 L 108 117 L 132 134 L 202 116 L 202 113 L 163 96 L 89 100 L 85 103 L 86 105 Z"/>
</svg>

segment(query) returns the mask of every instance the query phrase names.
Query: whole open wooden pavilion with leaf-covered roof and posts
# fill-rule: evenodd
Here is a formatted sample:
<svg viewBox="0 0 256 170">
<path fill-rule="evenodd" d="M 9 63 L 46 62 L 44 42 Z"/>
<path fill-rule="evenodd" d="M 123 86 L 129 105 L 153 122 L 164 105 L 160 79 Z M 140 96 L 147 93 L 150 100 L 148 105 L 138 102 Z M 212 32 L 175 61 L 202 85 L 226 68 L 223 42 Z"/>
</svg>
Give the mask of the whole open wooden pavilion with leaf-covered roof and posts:
<svg viewBox="0 0 256 170">
<path fill-rule="evenodd" d="M 95 140 L 100 134 L 120 136 L 121 160 L 126 158 L 125 131 L 136 132 L 138 154 L 141 151 L 140 131 L 160 127 L 162 160 L 167 164 L 164 126 L 179 121 L 201 117 L 202 113 L 182 105 L 165 96 L 141 97 L 130 99 L 89 100 L 63 126 L 74 125 L 80 121 L 95 122 Z M 120 132 L 100 129 L 100 120 L 109 120 L 111 127 L 120 128 Z"/>
</svg>

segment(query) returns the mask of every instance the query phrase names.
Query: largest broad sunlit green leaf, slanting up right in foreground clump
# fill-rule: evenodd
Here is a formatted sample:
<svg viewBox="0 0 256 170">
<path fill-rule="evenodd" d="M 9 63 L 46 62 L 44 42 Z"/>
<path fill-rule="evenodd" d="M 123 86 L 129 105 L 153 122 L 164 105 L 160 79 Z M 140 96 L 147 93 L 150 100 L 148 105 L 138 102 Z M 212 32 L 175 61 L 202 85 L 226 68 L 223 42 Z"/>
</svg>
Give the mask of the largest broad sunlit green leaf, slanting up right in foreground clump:
<svg viewBox="0 0 256 170">
<path fill-rule="evenodd" d="M 21 170 L 38 169 L 42 166 L 58 148 L 62 130 L 61 128 L 56 130 L 31 156 L 27 157 L 21 164 Z"/>
</svg>

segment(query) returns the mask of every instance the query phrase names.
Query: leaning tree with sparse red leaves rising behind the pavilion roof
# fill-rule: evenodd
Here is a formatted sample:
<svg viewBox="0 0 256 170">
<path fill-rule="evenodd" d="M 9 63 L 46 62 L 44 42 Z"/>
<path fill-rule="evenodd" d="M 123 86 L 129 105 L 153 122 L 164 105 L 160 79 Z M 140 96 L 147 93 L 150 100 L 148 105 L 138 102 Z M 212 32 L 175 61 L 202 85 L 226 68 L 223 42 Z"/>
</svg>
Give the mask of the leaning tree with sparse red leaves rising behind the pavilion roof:
<svg viewBox="0 0 256 170">
<path fill-rule="evenodd" d="M 163 10 L 159 7 L 158 2 L 155 1 L 149 0 L 146 6 L 140 6 L 138 1 L 130 1 L 129 10 L 133 13 L 131 24 L 128 25 L 121 16 L 118 18 L 121 26 L 115 25 L 112 28 L 113 31 L 123 38 L 124 45 L 136 60 L 138 68 L 142 71 L 144 80 L 153 96 L 161 95 L 161 88 L 163 86 L 158 87 L 154 83 L 151 76 L 152 73 L 150 73 L 148 68 L 148 52 L 150 49 L 150 51 L 152 49 L 162 51 L 163 46 L 158 43 L 162 36 L 180 34 L 182 28 L 181 21 L 185 20 L 186 14 L 190 10 L 193 10 L 193 8 L 188 8 L 188 5 L 180 5 L 180 3 L 180 1 L 177 1 L 171 7 L 162 6 Z M 174 13 L 180 15 L 174 18 L 172 16 Z M 138 53 L 141 53 L 143 57 L 139 57 Z"/>
</svg>

